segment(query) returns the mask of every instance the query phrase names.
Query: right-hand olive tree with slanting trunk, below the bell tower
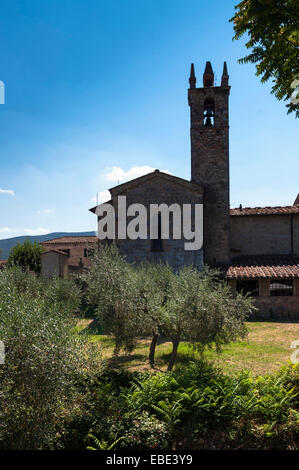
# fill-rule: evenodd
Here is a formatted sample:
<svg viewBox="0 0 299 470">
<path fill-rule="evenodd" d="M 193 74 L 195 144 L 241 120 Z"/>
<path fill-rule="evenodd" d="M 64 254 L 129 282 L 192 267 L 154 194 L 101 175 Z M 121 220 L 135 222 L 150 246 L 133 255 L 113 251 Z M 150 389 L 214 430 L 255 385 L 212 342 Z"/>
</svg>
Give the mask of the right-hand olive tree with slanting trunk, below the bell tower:
<svg viewBox="0 0 299 470">
<path fill-rule="evenodd" d="M 160 309 L 161 328 L 172 342 L 168 370 L 174 366 L 181 340 L 201 352 L 213 346 L 219 352 L 222 345 L 245 337 L 245 319 L 253 309 L 251 300 L 234 296 L 216 271 L 183 267 L 172 278 L 167 302 Z"/>
</svg>

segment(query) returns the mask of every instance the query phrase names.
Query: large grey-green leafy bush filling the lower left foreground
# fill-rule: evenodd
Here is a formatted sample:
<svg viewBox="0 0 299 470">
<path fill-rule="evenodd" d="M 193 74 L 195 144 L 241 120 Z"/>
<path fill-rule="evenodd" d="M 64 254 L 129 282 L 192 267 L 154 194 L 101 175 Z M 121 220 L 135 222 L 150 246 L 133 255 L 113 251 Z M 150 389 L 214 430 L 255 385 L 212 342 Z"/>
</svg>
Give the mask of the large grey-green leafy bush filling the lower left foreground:
<svg viewBox="0 0 299 470">
<path fill-rule="evenodd" d="M 0 271 L 0 448 L 57 447 L 76 412 L 76 383 L 95 366 L 92 345 L 71 332 L 78 301 L 71 281 Z"/>
</svg>

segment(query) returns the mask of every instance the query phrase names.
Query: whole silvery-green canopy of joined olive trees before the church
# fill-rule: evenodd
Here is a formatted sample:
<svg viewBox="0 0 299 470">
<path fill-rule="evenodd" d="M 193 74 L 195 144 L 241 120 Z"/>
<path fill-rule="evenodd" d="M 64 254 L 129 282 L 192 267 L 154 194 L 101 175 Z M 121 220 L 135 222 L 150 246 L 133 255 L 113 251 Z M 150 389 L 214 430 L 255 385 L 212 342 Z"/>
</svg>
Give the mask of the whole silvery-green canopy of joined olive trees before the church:
<svg viewBox="0 0 299 470">
<path fill-rule="evenodd" d="M 254 309 L 249 298 L 234 296 L 216 271 L 185 266 L 174 272 L 155 263 L 134 266 L 114 244 L 101 246 L 82 277 L 101 326 L 114 336 L 115 353 L 122 348 L 132 351 L 139 339 L 151 336 L 153 366 L 161 334 L 173 346 L 168 370 L 183 340 L 203 352 L 212 346 L 220 351 L 223 344 L 243 338 L 245 319 Z"/>
</svg>

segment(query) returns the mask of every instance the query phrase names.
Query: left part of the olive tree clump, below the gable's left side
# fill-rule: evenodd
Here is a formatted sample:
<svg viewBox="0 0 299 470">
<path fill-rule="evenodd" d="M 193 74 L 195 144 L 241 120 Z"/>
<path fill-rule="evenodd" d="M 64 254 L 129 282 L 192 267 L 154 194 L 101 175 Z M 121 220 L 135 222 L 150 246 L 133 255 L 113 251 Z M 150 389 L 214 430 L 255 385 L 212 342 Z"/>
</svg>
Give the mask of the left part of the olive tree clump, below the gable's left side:
<svg viewBox="0 0 299 470">
<path fill-rule="evenodd" d="M 115 354 L 132 351 L 139 338 L 150 334 L 144 315 L 138 271 L 120 256 L 114 244 L 104 244 L 94 254 L 89 272 L 82 275 L 87 299 L 96 308 L 104 330 L 115 338 Z"/>
</svg>

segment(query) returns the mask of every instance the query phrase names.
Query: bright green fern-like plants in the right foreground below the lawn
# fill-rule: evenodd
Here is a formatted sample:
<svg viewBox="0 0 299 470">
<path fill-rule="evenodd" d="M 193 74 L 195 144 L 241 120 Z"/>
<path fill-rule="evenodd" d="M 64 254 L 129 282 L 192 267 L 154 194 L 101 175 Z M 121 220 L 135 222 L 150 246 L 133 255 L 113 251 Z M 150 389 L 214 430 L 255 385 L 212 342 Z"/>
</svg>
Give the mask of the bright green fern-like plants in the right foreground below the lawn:
<svg viewBox="0 0 299 470">
<path fill-rule="evenodd" d="M 188 420 L 225 425 L 244 418 L 282 423 L 292 407 L 298 409 L 298 373 L 298 366 L 289 366 L 257 378 L 247 371 L 227 376 L 202 361 L 137 382 L 127 403 L 133 410 L 153 410 L 172 426 Z"/>
</svg>

